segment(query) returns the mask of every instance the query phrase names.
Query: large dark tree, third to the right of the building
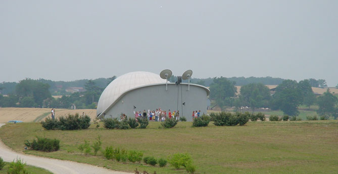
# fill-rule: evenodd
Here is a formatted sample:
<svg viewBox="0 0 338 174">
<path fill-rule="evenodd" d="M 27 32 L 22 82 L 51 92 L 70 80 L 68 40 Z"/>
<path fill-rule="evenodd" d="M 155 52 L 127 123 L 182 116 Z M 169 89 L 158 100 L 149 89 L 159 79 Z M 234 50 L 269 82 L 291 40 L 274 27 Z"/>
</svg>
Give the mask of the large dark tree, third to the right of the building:
<svg viewBox="0 0 338 174">
<path fill-rule="evenodd" d="M 299 115 L 297 107 L 302 104 L 303 100 L 303 93 L 297 81 L 284 80 L 277 86 L 271 104 L 272 108 L 280 109 L 286 115 L 297 116 Z"/>
</svg>

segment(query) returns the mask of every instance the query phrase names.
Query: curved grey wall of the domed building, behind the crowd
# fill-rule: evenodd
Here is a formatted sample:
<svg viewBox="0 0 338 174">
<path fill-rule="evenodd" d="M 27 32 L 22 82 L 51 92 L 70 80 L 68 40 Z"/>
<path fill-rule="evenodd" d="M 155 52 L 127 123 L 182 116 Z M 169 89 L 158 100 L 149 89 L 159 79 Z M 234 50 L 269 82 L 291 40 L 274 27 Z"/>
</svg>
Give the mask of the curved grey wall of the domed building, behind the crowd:
<svg viewBox="0 0 338 174">
<path fill-rule="evenodd" d="M 185 102 L 185 106 L 182 103 Z M 177 105 L 178 104 L 178 105 Z M 156 110 L 161 108 L 171 112 L 179 110 L 180 116 L 184 116 L 187 121 L 192 121 L 192 111 L 201 110 L 207 114 L 207 91 L 201 86 L 190 85 L 188 91 L 187 84 L 168 84 L 151 85 L 128 92 L 125 96 L 117 101 L 117 103 L 105 113 L 105 118 L 119 118 L 121 113 L 128 117 L 134 117 L 135 111 L 145 109 Z"/>
</svg>

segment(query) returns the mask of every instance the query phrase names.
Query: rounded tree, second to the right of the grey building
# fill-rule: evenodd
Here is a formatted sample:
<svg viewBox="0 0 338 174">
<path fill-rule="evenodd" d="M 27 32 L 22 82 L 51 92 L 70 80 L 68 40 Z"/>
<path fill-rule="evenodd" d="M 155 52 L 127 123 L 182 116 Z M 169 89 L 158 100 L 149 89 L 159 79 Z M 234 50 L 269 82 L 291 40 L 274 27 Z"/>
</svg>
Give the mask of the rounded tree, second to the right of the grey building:
<svg viewBox="0 0 338 174">
<path fill-rule="evenodd" d="M 254 112 L 255 108 L 266 107 L 271 99 L 270 90 L 262 83 L 250 83 L 240 88 L 240 96 Z"/>
</svg>

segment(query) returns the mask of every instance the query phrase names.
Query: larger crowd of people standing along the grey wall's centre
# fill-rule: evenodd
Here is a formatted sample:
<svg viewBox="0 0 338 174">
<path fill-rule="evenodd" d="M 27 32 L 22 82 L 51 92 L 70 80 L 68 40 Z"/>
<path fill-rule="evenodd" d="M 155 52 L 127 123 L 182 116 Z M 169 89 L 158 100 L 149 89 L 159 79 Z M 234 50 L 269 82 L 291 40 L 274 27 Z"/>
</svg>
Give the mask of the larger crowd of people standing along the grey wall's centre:
<svg viewBox="0 0 338 174">
<path fill-rule="evenodd" d="M 171 112 L 170 109 L 168 110 L 168 116 L 167 116 L 167 111 L 161 110 L 161 108 L 156 109 L 156 110 L 143 110 L 143 112 L 135 112 L 135 119 L 138 117 L 143 117 L 147 118 L 149 121 L 165 121 L 167 118 L 169 119 L 176 119 L 179 120 L 179 111 L 173 111 Z"/>
</svg>

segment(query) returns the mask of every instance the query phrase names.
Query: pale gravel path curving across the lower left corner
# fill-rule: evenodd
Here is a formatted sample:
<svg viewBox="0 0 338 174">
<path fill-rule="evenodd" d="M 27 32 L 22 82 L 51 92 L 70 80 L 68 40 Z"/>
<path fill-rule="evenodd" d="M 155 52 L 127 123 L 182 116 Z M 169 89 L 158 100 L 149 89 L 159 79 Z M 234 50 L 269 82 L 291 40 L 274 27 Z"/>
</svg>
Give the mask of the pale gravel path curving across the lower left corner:
<svg viewBox="0 0 338 174">
<path fill-rule="evenodd" d="M 0 123 L 0 127 L 5 125 Z M 122 171 L 113 171 L 107 168 L 89 165 L 85 163 L 79 163 L 74 161 L 44 158 L 33 155 L 26 155 L 18 153 L 7 147 L 2 141 L 0 141 L 0 157 L 7 162 L 12 162 L 17 157 L 22 159 L 28 165 L 34 165 L 37 167 L 45 168 L 53 173 L 128 173 Z M 128 173 L 129 174 L 129 173 Z"/>
</svg>

